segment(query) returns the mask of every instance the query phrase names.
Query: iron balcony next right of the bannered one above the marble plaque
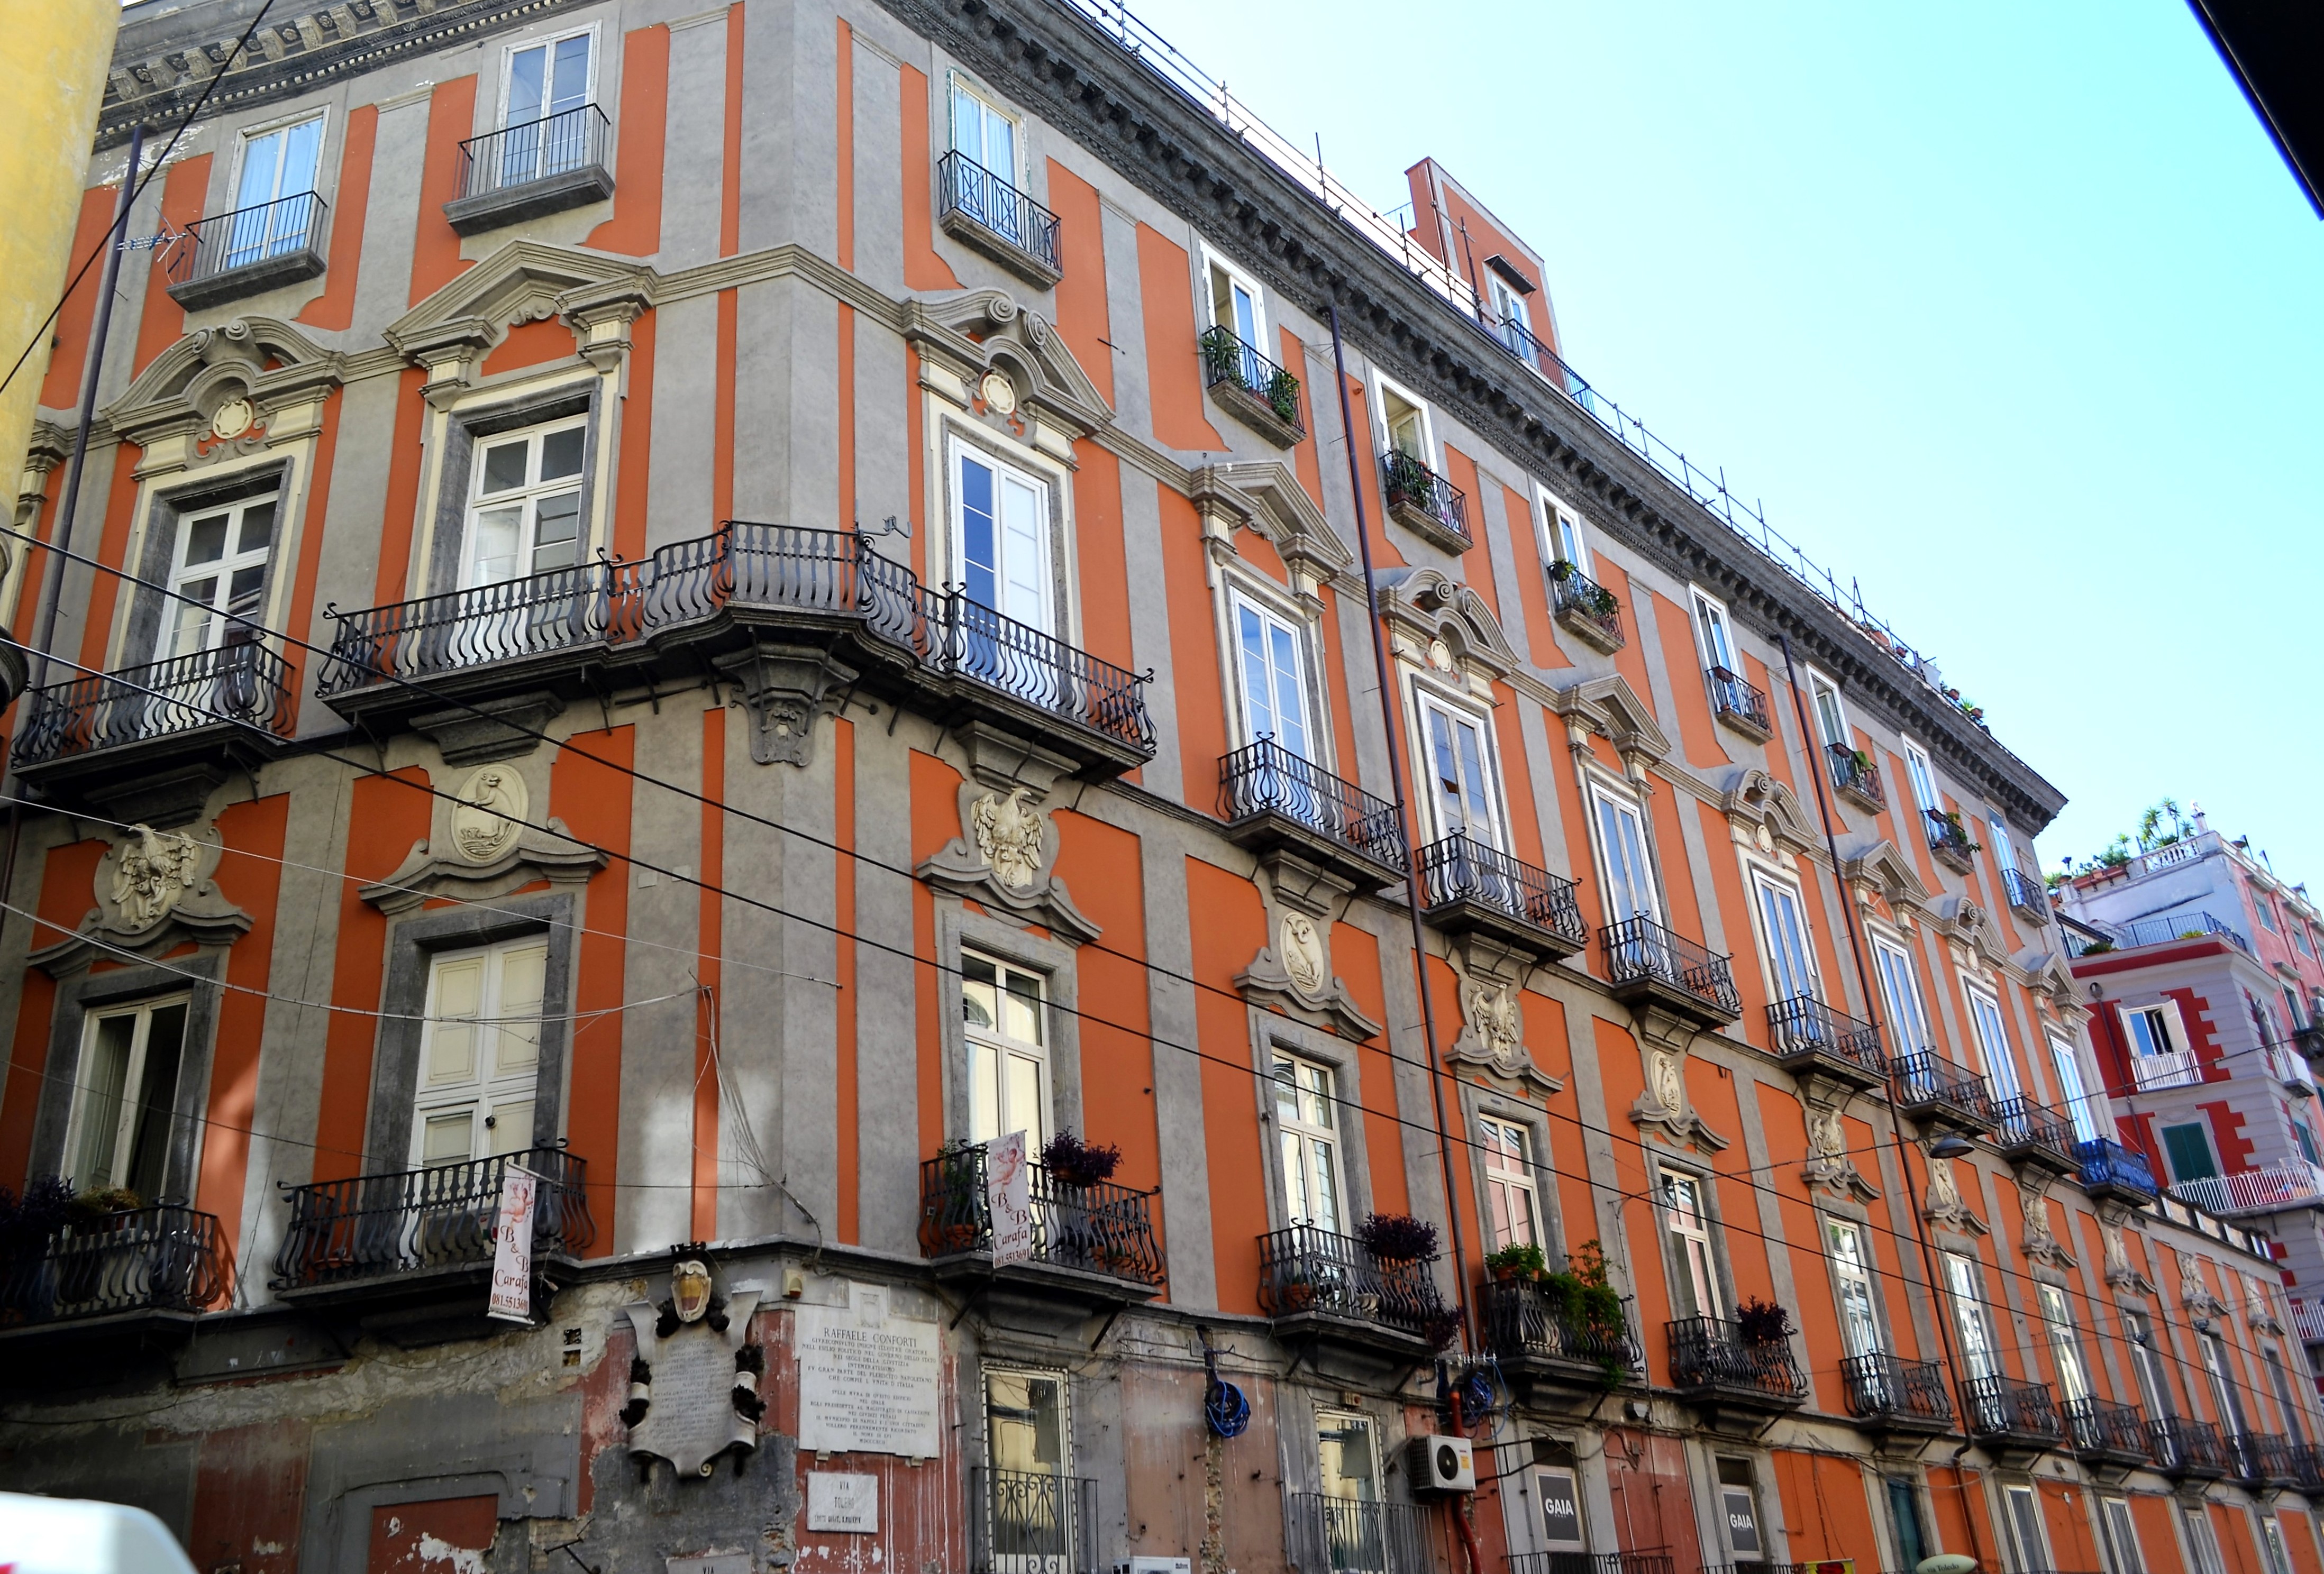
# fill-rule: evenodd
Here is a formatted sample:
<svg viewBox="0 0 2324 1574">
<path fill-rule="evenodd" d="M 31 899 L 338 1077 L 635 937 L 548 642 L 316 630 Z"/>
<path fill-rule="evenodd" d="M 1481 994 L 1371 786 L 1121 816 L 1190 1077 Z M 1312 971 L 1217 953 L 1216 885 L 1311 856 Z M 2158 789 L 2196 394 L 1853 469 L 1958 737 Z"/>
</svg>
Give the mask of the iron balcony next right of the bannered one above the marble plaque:
<svg viewBox="0 0 2324 1574">
<path fill-rule="evenodd" d="M 1350 1235 L 1292 1225 L 1260 1237 L 1260 1309 L 1278 1337 L 1418 1360 L 1455 1323 L 1436 1293 L 1434 1262 L 1390 1262 Z"/>
</svg>

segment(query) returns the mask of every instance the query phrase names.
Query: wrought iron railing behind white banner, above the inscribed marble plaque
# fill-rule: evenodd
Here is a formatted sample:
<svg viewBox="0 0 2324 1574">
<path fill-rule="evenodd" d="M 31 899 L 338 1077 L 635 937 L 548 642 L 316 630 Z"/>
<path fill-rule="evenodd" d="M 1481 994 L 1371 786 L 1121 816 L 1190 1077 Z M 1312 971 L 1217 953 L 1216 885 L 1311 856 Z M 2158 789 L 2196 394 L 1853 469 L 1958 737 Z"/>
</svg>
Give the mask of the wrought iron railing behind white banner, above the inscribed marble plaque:
<svg viewBox="0 0 2324 1574">
<path fill-rule="evenodd" d="M 1076 1183 L 1048 1165 L 1032 1172 L 1032 1260 L 1160 1286 L 1153 1193 L 1113 1181 Z M 985 1149 L 971 1144 L 920 1165 L 920 1253 L 951 1258 L 992 1249 Z"/>
</svg>

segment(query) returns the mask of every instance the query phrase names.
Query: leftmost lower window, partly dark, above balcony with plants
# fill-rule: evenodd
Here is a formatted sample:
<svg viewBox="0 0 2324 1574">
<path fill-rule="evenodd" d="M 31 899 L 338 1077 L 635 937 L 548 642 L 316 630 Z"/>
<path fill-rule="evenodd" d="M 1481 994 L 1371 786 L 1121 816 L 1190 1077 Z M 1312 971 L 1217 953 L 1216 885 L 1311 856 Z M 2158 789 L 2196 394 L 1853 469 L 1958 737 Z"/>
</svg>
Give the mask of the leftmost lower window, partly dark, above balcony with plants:
<svg viewBox="0 0 2324 1574">
<path fill-rule="evenodd" d="M 65 1132 L 77 1190 L 125 1186 L 151 1202 L 167 1186 L 188 1007 L 184 997 L 146 1002 L 91 1014 L 81 1025 Z"/>
</svg>

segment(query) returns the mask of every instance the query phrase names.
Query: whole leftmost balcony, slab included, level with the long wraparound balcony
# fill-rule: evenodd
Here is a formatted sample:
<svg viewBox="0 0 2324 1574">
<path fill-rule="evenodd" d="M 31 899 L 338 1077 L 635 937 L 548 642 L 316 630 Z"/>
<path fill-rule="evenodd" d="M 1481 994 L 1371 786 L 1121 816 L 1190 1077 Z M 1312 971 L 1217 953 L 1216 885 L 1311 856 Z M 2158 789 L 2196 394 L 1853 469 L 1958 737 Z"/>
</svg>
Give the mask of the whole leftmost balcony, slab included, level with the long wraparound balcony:
<svg viewBox="0 0 2324 1574">
<path fill-rule="evenodd" d="M 295 711 L 281 656 L 223 644 L 35 688 L 12 760 L 28 784 L 86 797 L 114 818 L 170 825 L 286 742 Z"/>
</svg>

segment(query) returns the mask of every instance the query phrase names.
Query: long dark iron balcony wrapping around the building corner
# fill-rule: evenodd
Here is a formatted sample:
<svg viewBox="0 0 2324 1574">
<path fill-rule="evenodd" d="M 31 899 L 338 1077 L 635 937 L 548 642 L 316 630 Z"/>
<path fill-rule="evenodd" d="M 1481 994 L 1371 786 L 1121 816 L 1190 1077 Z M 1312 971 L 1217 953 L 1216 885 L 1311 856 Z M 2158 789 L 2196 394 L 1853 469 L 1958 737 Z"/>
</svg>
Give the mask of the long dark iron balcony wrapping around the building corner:
<svg viewBox="0 0 2324 1574">
<path fill-rule="evenodd" d="M 365 725 L 511 691 L 586 697 L 609 684 L 700 679 L 762 635 L 813 642 L 871 693 L 944 721 L 997 721 L 1085 772 L 1153 758 L 1146 677 L 925 591 L 855 532 L 730 521 L 644 563 L 590 563 L 395 607 L 332 614 L 316 693 Z M 425 691 L 414 691 L 411 681 Z"/>
</svg>

